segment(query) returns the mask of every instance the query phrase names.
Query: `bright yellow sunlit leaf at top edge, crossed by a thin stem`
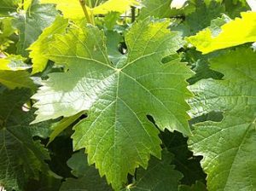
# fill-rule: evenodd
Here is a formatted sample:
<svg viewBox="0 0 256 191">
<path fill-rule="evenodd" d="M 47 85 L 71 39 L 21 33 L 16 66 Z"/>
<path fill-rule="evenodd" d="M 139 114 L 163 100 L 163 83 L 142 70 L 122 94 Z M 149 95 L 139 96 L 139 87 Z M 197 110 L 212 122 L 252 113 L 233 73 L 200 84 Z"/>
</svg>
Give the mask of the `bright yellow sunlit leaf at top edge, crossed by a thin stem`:
<svg viewBox="0 0 256 191">
<path fill-rule="evenodd" d="M 84 12 L 79 0 L 41 0 L 41 3 L 54 3 L 65 18 L 78 20 L 84 18 Z M 131 6 L 138 5 L 137 0 L 108 0 L 95 8 L 89 8 L 89 14 L 108 14 L 109 12 L 124 13 Z"/>
</svg>

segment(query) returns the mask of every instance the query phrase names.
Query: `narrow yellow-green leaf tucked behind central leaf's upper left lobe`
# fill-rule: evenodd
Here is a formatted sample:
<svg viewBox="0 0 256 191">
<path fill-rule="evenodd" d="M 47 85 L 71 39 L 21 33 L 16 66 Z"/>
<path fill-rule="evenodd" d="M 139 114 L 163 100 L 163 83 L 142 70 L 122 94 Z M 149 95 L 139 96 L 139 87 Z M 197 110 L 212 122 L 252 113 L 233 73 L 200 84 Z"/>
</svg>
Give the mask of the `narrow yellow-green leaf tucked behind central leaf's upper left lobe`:
<svg viewBox="0 0 256 191">
<path fill-rule="evenodd" d="M 42 72 L 47 65 L 48 59 L 44 56 L 49 44 L 53 40 L 55 34 L 66 32 L 68 20 L 63 19 L 61 16 L 56 17 L 51 26 L 44 29 L 43 33 L 39 36 L 38 40 L 28 48 L 32 50 L 29 56 L 32 58 L 33 69 L 32 74 Z"/>
</svg>

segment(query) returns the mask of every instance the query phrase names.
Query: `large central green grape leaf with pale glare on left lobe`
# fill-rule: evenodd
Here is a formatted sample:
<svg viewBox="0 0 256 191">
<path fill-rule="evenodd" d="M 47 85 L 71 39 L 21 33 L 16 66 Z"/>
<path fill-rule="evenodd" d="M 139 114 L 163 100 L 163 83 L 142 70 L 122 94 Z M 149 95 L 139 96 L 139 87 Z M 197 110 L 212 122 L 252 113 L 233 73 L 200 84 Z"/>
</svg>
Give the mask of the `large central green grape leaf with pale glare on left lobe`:
<svg viewBox="0 0 256 191">
<path fill-rule="evenodd" d="M 169 24 L 150 19 L 134 24 L 125 35 L 128 55 L 117 65 L 108 60 L 106 39 L 95 26 L 56 35 L 49 58 L 68 71 L 49 74 L 33 96 L 35 123 L 88 110 L 74 128 L 73 148 L 86 148 L 89 164 L 96 163 L 115 189 L 128 172 L 145 168 L 150 154 L 160 157 L 159 130 L 147 115 L 160 130 L 190 134 L 184 99 L 191 96 L 185 79 L 192 72 L 177 59 L 161 62 L 183 45 Z"/>
</svg>

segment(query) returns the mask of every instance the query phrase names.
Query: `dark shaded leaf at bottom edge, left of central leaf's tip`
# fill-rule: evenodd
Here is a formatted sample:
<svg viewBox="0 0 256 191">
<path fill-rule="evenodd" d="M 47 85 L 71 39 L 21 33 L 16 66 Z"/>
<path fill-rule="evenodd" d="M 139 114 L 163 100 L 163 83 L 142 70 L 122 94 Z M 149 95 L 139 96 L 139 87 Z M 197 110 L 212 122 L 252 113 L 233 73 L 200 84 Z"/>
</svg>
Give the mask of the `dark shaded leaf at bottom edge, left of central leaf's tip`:
<svg viewBox="0 0 256 191">
<path fill-rule="evenodd" d="M 94 191 L 110 191 L 112 190 L 105 178 L 99 176 L 94 166 L 88 165 L 86 162 L 84 151 L 74 153 L 72 158 L 67 161 L 67 165 L 72 169 L 74 176 L 78 179 L 67 178 L 66 182 L 61 185 L 61 191 L 77 190 L 94 190 Z"/>
</svg>

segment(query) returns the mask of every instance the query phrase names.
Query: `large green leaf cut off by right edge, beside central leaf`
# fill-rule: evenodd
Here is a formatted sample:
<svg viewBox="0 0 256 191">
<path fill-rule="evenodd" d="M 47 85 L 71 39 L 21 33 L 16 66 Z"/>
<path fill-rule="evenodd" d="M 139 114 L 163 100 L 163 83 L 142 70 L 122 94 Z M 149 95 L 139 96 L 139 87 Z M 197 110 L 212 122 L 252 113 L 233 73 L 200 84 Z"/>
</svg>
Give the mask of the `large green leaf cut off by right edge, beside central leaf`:
<svg viewBox="0 0 256 191">
<path fill-rule="evenodd" d="M 206 79 L 190 86 L 192 116 L 224 112 L 221 122 L 195 125 L 189 147 L 203 155 L 201 165 L 211 190 L 256 188 L 256 54 L 239 48 L 211 61 L 223 80 Z"/>
</svg>

